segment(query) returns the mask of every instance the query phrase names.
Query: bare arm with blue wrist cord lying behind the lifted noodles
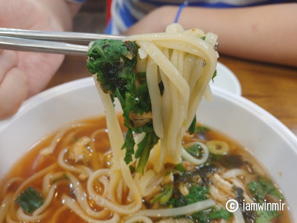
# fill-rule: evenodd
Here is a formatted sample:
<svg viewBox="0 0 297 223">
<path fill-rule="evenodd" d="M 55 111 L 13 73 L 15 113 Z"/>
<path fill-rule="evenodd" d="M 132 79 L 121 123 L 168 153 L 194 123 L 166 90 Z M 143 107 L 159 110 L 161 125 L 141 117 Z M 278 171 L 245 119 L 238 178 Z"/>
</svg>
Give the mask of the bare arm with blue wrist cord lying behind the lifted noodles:
<svg viewBox="0 0 297 223">
<path fill-rule="evenodd" d="M 173 23 L 178 7 L 164 6 L 149 13 L 125 35 L 163 32 Z M 218 34 L 221 54 L 297 66 L 297 3 L 244 8 L 185 6 L 178 23 Z"/>
</svg>

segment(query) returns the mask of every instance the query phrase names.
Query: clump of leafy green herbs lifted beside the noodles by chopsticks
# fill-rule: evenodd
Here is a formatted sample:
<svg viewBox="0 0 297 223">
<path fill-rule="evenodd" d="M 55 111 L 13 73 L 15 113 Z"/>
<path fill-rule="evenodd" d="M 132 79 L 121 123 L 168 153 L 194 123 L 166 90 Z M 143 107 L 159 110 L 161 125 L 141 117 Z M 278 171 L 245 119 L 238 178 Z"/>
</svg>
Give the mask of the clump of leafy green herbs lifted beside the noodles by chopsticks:
<svg viewBox="0 0 297 223">
<path fill-rule="evenodd" d="M 97 80 L 111 99 L 118 98 L 123 110 L 124 125 L 128 128 L 122 149 L 126 149 L 125 162 L 132 161 L 132 155 L 139 158 L 137 172 L 143 173 L 151 148 L 158 142 L 151 117 L 151 102 L 148 94 L 146 72 L 135 68 L 138 60 L 138 46 L 134 42 L 99 40 L 87 55 L 87 68 L 97 74 Z M 133 133 L 146 135 L 134 151 Z"/>
</svg>

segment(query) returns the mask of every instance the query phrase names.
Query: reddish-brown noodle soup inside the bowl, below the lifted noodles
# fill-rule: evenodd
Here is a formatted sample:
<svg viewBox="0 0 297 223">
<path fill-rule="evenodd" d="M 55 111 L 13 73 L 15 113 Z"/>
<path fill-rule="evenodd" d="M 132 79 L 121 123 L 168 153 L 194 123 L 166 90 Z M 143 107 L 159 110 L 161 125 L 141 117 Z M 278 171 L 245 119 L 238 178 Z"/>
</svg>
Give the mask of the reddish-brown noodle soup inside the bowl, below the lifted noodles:
<svg viewBox="0 0 297 223">
<path fill-rule="evenodd" d="M 124 135 L 126 128 L 119 120 Z M 225 204 L 233 198 L 248 222 L 256 212 L 247 210 L 247 204 L 263 202 L 258 200 L 259 187 L 270 187 L 263 193 L 266 203 L 286 202 L 250 153 L 221 133 L 197 126 L 194 135 L 184 136 L 183 147 L 202 163 L 195 166 L 183 160 L 156 173 L 158 154 L 152 151 L 144 177 L 135 173 L 135 163 L 130 166 L 133 180 L 145 196 L 141 211 L 125 213 L 134 208 L 133 194 L 123 179 L 110 174 L 121 170 L 111 168 L 117 164 L 113 163 L 105 117 L 73 123 L 38 142 L 2 181 L 1 202 L 10 207 L 1 218 L 4 223 L 217 222 L 223 217 L 232 222 L 237 212 L 226 211 Z M 28 187 L 43 197 L 43 205 L 30 214 L 13 200 Z M 284 207 L 275 222 L 290 222 L 288 206 Z"/>
</svg>

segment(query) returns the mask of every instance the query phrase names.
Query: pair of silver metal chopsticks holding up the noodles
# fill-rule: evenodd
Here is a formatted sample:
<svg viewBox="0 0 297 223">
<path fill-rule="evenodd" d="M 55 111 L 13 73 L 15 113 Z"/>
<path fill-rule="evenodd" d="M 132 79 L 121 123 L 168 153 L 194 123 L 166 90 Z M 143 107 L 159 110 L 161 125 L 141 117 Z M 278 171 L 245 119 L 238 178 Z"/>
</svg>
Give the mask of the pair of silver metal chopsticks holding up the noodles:
<svg viewBox="0 0 297 223">
<path fill-rule="evenodd" d="M 123 40 L 124 38 L 125 36 L 106 34 L 0 28 L 0 49 L 87 56 L 88 45 L 73 43 L 89 44 L 98 39 Z"/>
</svg>

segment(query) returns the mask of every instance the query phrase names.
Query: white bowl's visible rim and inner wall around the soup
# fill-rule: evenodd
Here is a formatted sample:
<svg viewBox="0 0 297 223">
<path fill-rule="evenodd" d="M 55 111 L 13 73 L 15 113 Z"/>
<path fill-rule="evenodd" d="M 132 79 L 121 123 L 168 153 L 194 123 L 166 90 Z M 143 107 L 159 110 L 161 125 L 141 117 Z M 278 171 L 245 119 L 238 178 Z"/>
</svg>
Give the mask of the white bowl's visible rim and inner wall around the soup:
<svg viewBox="0 0 297 223">
<path fill-rule="evenodd" d="M 250 150 L 284 192 L 297 220 L 297 137 L 274 116 L 245 98 L 212 87 L 197 117 Z M 69 82 L 29 99 L 18 113 L 0 121 L 0 178 L 27 148 L 69 122 L 103 113 L 92 77 Z"/>
</svg>

